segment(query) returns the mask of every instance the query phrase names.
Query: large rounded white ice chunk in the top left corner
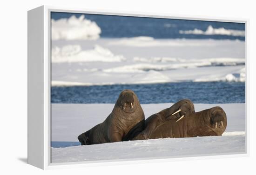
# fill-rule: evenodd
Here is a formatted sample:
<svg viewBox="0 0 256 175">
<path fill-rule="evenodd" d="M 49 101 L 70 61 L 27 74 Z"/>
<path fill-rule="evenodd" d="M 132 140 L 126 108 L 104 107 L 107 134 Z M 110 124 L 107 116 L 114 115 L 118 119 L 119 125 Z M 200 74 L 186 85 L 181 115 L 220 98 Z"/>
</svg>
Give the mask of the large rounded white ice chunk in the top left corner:
<svg viewBox="0 0 256 175">
<path fill-rule="evenodd" d="M 84 15 L 76 18 L 52 19 L 52 40 L 86 40 L 100 38 L 101 28 L 94 21 L 85 19 Z"/>
</svg>

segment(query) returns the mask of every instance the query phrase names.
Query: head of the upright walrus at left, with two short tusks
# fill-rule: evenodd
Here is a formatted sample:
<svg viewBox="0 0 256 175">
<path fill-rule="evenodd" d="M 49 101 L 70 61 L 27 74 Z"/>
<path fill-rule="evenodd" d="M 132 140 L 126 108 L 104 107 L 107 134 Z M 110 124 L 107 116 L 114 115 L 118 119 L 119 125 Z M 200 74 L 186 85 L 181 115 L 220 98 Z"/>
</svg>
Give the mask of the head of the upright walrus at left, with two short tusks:
<svg viewBox="0 0 256 175">
<path fill-rule="evenodd" d="M 134 91 L 126 89 L 121 91 L 116 104 L 122 111 L 132 113 L 136 110 L 139 104 L 139 99 L 135 95 Z"/>
</svg>

